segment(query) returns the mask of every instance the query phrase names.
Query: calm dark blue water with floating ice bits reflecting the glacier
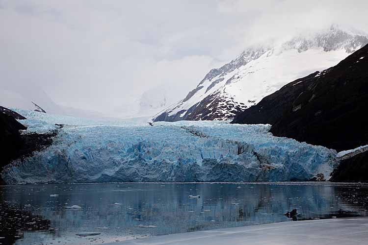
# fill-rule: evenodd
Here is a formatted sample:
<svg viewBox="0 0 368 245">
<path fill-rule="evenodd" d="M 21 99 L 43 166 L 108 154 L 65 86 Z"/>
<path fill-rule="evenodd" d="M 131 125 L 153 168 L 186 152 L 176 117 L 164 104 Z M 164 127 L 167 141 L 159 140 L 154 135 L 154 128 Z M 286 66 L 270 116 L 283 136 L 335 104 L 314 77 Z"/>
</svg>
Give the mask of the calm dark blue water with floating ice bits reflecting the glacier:
<svg viewBox="0 0 368 245">
<path fill-rule="evenodd" d="M 367 216 L 367 194 L 364 185 L 311 182 L 0 186 L 0 243 L 108 243 L 290 221 L 283 214 L 294 208 L 300 219 Z"/>
</svg>

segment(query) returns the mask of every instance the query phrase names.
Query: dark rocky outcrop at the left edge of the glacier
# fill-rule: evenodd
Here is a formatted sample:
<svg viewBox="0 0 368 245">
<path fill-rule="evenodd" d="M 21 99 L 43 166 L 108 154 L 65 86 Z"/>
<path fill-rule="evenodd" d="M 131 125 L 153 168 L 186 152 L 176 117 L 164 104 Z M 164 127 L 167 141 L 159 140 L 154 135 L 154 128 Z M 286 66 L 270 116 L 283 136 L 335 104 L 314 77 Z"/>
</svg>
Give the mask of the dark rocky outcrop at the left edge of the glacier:
<svg viewBox="0 0 368 245">
<path fill-rule="evenodd" d="M 7 114 L 0 113 L 0 172 L 12 160 L 24 159 L 25 157 L 32 156 L 34 151 L 51 146 L 53 143 L 52 138 L 57 134 L 57 130 L 53 130 L 47 134 L 21 134 L 20 130 L 26 130 L 26 126 L 15 119 L 18 116 L 11 113 L 11 110 L 6 110 L 10 112 L 7 112 Z M 9 114 L 12 116 L 9 116 Z M 1 175 L 0 184 L 5 184 Z"/>
</svg>

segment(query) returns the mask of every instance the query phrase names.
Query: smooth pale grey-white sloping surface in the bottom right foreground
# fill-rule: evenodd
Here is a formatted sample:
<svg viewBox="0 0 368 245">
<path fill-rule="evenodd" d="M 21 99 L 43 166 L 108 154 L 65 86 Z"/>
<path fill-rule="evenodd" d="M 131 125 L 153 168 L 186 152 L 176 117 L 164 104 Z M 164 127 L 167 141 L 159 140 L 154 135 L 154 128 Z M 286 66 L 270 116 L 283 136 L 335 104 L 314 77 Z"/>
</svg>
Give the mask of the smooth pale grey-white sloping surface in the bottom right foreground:
<svg viewBox="0 0 368 245">
<path fill-rule="evenodd" d="M 197 231 L 109 245 L 351 245 L 366 244 L 368 219 L 332 219 Z"/>
</svg>

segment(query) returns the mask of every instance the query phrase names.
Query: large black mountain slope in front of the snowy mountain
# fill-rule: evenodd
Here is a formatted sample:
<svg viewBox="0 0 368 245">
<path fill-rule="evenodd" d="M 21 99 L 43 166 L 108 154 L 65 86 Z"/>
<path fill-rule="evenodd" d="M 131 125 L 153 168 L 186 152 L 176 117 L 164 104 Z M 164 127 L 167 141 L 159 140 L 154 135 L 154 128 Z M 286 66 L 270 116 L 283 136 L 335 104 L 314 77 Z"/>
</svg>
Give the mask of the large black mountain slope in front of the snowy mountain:
<svg viewBox="0 0 368 245">
<path fill-rule="evenodd" d="M 367 103 L 368 45 L 285 85 L 232 123 L 269 123 L 275 136 L 341 151 L 368 144 Z"/>
</svg>

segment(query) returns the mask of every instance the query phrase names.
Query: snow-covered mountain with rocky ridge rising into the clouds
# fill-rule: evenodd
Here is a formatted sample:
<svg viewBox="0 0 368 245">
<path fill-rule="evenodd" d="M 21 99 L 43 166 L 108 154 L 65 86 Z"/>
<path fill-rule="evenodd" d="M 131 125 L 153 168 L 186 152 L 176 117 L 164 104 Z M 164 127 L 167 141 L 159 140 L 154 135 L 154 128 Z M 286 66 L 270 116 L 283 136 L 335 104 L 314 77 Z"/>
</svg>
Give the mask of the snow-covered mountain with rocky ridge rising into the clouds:
<svg viewBox="0 0 368 245">
<path fill-rule="evenodd" d="M 196 88 L 153 121 L 230 120 L 299 77 L 335 66 L 368 43 L 368 36 L 337 25 L 277 45 L 245 49 L 212 69 Z"/>
</svg>

